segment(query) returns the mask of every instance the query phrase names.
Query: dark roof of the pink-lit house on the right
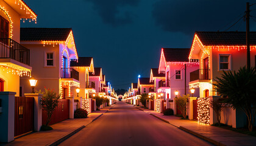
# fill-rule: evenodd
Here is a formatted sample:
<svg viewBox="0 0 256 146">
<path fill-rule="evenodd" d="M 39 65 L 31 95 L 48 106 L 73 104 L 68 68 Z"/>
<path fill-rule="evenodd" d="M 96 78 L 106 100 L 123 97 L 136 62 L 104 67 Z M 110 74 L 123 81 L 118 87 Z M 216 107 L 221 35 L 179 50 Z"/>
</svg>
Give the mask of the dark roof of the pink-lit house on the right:
<svg viewBox="0 0 256 146">
<path fill-rule="evenodd" d="M 166 62 L 188 62 L 190 48 L 163 48 Z"/>
</svg>

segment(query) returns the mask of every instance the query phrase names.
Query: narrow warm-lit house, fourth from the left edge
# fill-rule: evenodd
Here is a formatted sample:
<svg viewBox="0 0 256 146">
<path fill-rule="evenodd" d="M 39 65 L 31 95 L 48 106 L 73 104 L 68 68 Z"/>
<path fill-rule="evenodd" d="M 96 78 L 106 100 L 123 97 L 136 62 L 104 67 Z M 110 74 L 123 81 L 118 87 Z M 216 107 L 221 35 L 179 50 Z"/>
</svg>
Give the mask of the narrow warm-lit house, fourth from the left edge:
<svg viewBox="0 0 256 146">
<path fill-rule="evenodd" d="M 89 81 L 95 84 L 96 96 L 102 95 L 102 92 L 100 92 L 102 81 L 102 68 L 94 68 L 94 72 L 89 73 Z"/>
</svg>

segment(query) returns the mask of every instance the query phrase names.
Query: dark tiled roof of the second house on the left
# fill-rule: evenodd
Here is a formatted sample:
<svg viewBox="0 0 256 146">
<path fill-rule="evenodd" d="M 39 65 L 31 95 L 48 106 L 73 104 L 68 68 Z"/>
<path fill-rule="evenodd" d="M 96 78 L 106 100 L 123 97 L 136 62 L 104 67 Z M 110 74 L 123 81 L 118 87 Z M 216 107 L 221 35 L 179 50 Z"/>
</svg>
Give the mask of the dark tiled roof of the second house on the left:
<svg viewBox="0 0 256 146">
<path fill-rule="evenodd" d="M 21 41 L 66 41 L 71 28 L 21 28 Z"/>
</svg>

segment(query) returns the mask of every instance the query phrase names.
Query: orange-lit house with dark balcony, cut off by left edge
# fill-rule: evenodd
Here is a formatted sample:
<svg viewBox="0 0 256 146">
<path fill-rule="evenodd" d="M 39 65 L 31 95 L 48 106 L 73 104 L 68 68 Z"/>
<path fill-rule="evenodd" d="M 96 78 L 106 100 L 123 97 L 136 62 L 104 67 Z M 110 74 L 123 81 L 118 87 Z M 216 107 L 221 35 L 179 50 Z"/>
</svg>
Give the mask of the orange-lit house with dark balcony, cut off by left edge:
<svg viewBox="0 0 256 146">
<path fill-rule="evenodd" d="M 21 9 L 22 8 L 22 9 Z M 0 91 L 21 96 L 20 77 L 31 77 L 30 50 L 20 44 L 20 21 L 37 21 L 37 15 L 22 0 L 0 0 Z"/>
</svg>

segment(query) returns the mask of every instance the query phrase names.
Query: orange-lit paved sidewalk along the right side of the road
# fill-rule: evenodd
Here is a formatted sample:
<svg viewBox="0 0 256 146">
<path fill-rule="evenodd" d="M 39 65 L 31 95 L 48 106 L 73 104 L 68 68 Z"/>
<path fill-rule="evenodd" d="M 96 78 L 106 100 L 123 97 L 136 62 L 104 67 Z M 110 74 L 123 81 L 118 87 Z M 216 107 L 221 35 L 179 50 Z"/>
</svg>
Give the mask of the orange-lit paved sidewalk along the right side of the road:
<svg viewBox="0 0 256 146">
<path fill-rule="evenodd" d="M 138 106 L 136 107 L 164 122 L 170 123 L 181 130 L 187 131 L 215 145 L 256 145 L 256 137 L 254 136 L 237 133 L 224 128 L 213 127 L 194 120 L 182 120 L 180 117 L 176 116 L 163 116 L 163 113 Z"/>
</svg>

